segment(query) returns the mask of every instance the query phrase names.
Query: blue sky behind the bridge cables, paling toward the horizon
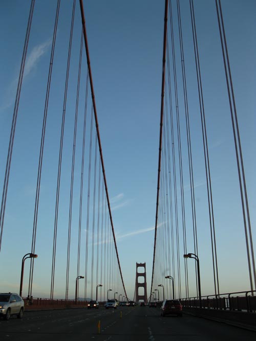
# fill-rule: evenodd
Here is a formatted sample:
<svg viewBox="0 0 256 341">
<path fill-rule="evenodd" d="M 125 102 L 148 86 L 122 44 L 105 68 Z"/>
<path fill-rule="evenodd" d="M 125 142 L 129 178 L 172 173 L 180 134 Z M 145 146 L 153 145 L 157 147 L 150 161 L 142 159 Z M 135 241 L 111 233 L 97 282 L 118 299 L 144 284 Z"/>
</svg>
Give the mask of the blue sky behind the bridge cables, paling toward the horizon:
<svg viewBox="0 0 256 341">
<path fill-rule="evenodd" d="M 31 249 L 41 125 L 56 4 L 57 2 L 52 0 L 37 0 L 35 2 L 13 146 L 0 253 L 2 275 L 0 291 L 2 292 L 18 292 L 21 260 Z M 191 35 L 189 2 L 182 0 L 180 4 L 188 102 L 191 115 L 191 148 L 193 150 L 199 252 L 202 267 L 201 285 L 203 294 L 211 294 L 214 293 L 214 289 L 211 278 L 206 180 L 193 37 Z M 36 241 L 38 258 L 36 259 L 37 266 L 33 284 L 34 296 L 37 297 L 49 297 L 50 290 L 59 138 L 72 6 L 73 2 L 71 1 L 61 2 L 57 28 L 38 213 Z M 249 290 L 238 174 L 215 2 L 212 0 L 195 0 L 194 6 L 217 225 L 221 292 Z M 0 77 L 1 195 L 29 8 L 29 1 L 4 0 L 0 4 L 2 41 Z M 222 10 L 240 127 L 252 236 L 255 244 L 256 3 L 253 0 L 243 2 L 225 0 L 222 1 Z M 173 11 L 176 15 L 176 2 L 173 2 Z M 164 1 L 88 0 L 84 1 L 84 12 L 105 175 L 111 201 L 117 248 L 127 295 L 132 298 L 135 287 L 136 262 L 146 262 L 147 291 L 150 290 L 152 276 L 161 108 Z M 175 16 L 174 27 L 175 33 L 177 33 Z M 65 297 L 63 281 L 66 277 L 67 225 L 80 39 L 81 18 L 79 2 L 77 1 L 63 139 L 56 254 L 55 296 L 57 298 Z M 179 60 L 178 43 L 176 49 L 177 60 Z M 179 66 L 180 63 L 177 61 L 177 67 Z M 86 56 L 83 51 L 81 94 L 85 92 L 86 72 Z M 178 86 L 181 93 L 180 80 Z M 74 229 L 78 223 L 79 210 L 83 106 L 81 96 L 78 110 L 77 156 L 75 161 L 72 220 Z M 184 149 L 185 202 L 187 224 L 189 225 L 189 174 L 185 156 L 184 110 L 182 110 L 182 105 L 180 115 L 183 129 L 181 135 L 184 139 L 182 148 Z M 94 149 L 92 153 L 94 153 Z M 84 178 L 87 179 L 87 175 L 86 173 Z M 93 175 L 91 181 L 93 181 Z M 92 192 L 93 188 L 91 188 Z M 84 189 L 83 238 L 86 237 L 86 205 L 87 189 Z M 188 229 L 190 236 L 189 231 Z M 91 238 L 91 232 L 89 238 Z M 74 232 L 71 247 L 71 259 L 74 261 L 74 264 L 71 265 L 71 290 L 74 289 L 73 278 L 76 276 L 76 239 L 77 236 Z M 188 245 L 192 244 L 191 239 L 189 239 Z M 28 266 L 25 270 L 25 292 L 27 278 Z M 193 293 L 195 293 L 195 285 L 191 284 L 191 294 Z"/>
</svg>

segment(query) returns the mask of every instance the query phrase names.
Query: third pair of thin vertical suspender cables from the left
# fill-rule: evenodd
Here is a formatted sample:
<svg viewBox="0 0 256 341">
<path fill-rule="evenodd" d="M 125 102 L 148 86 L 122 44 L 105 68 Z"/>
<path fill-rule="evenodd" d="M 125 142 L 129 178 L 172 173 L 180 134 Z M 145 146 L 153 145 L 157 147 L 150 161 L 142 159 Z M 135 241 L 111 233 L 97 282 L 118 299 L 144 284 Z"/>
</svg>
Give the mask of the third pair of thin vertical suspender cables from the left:
<svg viewBox="0 0 256 341">
<path fill-rule="evenodd" d="M 68 83 L 69 83 L 69 66 L 70 66 L 70 56 L 71 56 L 73 27 L 74 27 L 74 16 L 75 16 L 75 4 L 76 4 L 76 2 L 74 0 L 74 2 L 73 2 L 73 10 L 72 10 L 71 28 L 70 28 L 69 53 L 68 53 L 68 63 L 67 63 L 67 72 L 66 72 L 65 94 L 64 94 L 64 100 L 63 100 L 63 112 L 62 112 L 61 134 L 60 134 L 60 146 L 59 146 L 59 164 L 58 164 L 58 178 L 57 178 L 57 189 L 56 189 L 55 220 L 54 220 L 54 234 L 53 234 L 53 252 L 52 252 L 51 300 L 53 299 L 53 291 L 54 291 L 55 258 L 56 258 L 57 227 L 58 227 L 58 208 L 59 208 L 60 173 L 61 173 L 63 135 L 64 135 L 65 116 L 66 116 L 67 92 L 68 92 Z"/>
</svg>

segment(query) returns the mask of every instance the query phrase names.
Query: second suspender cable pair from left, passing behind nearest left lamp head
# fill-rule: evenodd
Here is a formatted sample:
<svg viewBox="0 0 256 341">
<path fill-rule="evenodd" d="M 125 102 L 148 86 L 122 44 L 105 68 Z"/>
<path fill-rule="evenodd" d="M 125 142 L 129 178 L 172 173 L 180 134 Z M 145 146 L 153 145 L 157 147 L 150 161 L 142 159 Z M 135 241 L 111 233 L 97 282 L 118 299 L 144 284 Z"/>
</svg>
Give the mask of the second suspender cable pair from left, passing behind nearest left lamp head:
<svg viewBox="0 0 256 341">
<path fill-rule="evenodd" d="M 39 194 L 40 194 L 40 184 L 41 184 L 41 171 L 42 171 L 42 157 L 44 154 L 44 146 L 45 146 L 45 132 L 46 132 L 48 103 L 49 103 L 50 86 L 51 86 L 51 78 L 52 78 L 52 67 L 53 67 L 53 58 L 54 58 L 54 50 L 55 50 L 55 41 L 56 41 L 57 26 L 58 26 L 59 6 L 60 6 L 60 0 L 58 0 L 57 8 L 56 8 L 55 24 L 54 24 L 53 38 L 52 38 L 52 51 L 51 51 L 51 57 L 50 57 L 48 82 L 47 82 L 47 90 L 46 90 L 44 120 L 42 123 L 41 145 L 40 145 L 40 155 L 39 155 L 39 162 L 38 162 L 37 184 L 36 184 L 36 196 L 35 196 L 33 237 L 32 237 L 32 245 L 31 245 L 31 253 L 33 253 L 33 254 L 35 253 L 37 215 L 38 215 Z M 30 296 L 32 295 L 33 272 L 34 272 L 34 258 L 32 258 L 31 262 L 30 262 L 29 292 L 28 292 L 28 294 Z"/>
</svg>

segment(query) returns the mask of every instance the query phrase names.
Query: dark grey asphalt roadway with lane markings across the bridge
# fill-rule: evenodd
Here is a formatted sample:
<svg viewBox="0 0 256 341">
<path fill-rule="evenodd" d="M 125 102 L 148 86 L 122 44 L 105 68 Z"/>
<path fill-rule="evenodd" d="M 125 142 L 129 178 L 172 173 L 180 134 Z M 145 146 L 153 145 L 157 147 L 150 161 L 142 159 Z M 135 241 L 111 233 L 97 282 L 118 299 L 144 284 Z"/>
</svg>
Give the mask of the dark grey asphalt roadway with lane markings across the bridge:
<svg viewBox="0 0 256 341">
<path fill-rule="evenodd" d="M 55 309 L 25 311 L 23 319 L 0 320 L 0 339 L 19 341 L 256 340 L 256 332 L 205 320 L 160 316 L 159 308 Z"/>
</svg>

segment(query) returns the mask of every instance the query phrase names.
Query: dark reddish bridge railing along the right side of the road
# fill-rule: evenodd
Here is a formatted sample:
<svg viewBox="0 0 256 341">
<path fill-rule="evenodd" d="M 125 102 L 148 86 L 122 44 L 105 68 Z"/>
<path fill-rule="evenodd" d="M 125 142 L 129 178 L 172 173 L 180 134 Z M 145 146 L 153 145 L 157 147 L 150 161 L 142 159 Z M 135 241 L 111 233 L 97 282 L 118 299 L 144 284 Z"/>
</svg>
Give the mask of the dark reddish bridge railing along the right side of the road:
<svg viewBox="0 0 256 341">
<path fill-rule="evenodd" d="M 201 307 L 203 309 L 223 309 L 255 312 L 256 293 L 254 291 L 239 291 L 222 293 L 220 295 L 207 295 L 201 297 Z M 183 307 L 200 308 L 199 297 L 180 299 Z"/>
</svg>

